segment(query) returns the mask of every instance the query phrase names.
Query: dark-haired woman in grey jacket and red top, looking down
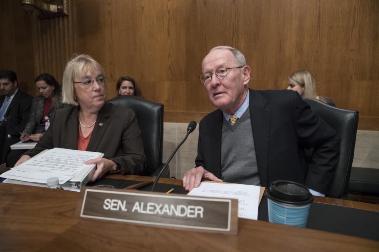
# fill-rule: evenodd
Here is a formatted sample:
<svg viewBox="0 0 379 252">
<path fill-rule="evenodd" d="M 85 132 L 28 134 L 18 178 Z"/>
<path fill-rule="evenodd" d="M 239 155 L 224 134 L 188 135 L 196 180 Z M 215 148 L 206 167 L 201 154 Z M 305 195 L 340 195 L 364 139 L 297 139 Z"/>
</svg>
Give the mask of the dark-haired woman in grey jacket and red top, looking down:
<svg viewBox="0 0 379 252">
<path fill-rule="evenodd" d="M 38 142 L 45 130 L 49 128 L 50 118 L 55 110 L 63 107 L 61 86 L 52 75 L 42 73 L 36 78 L 35 82 L 41 95 L 35 97 L 31 103 L 29 120 L 20 137 L 22 142 L 28 140 Z M 9 152 L 8 167 L 13 167 L 25 151 L 25 149 L 17 149 Z"/>
</svg>

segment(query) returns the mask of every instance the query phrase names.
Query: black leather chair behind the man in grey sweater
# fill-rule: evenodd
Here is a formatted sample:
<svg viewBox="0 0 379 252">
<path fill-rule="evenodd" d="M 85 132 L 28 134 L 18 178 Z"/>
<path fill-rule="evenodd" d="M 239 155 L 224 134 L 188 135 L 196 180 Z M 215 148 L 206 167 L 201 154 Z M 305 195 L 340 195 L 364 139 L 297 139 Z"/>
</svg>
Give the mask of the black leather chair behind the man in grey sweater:
<svg viewBox="0 0 379 252">
<path fill-rule="evenodd" d="M 316 115 L 323 118 L 341 137 L 340 157 L 327 197 L 356 200 L 348 194 L 351 165 L 358 128 L 358 111 L 339 109 L 313 98 L 305 98 Z"/>
</svg>

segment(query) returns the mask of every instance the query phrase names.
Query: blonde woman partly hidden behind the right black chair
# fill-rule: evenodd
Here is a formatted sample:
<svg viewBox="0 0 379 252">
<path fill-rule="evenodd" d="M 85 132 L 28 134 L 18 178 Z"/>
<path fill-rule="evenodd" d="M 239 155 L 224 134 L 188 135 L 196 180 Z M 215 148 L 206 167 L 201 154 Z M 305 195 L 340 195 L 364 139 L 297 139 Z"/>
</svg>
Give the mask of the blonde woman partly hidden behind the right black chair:
<svg viewBox="0 0 379 252">
<path fill-rule="evenodd" d="M 312 75 L 305 70 L 294 72 L 290 75 L 287 89 L 296 91 L 301 98 L 316 98 L 330 106 L 335 107 L 335 103 L 330 98 L 316 95 L 315 80 Z"/>
</svg>

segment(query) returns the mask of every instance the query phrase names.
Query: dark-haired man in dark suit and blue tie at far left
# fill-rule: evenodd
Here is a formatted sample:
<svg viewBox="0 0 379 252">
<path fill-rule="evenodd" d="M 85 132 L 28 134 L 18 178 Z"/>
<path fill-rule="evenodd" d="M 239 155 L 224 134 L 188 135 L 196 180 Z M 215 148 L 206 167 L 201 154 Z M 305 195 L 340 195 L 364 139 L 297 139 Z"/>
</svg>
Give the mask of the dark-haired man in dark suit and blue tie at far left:
<svg viewBox="0 0 379 252">
<path fill-rule="evenodd" d="M 9 146 L 20 141 L 19 132 L 23 131 L 28 121 L 33 97 L 19 90 L 17 75 L 13 71 L 0 71 L 0 88 L 3 92 L 3 95 L 0 96 L 0 121 L 7 117 L 12 118 L 7 126 L 6 157 L 11 150 Z"/>
</svg>

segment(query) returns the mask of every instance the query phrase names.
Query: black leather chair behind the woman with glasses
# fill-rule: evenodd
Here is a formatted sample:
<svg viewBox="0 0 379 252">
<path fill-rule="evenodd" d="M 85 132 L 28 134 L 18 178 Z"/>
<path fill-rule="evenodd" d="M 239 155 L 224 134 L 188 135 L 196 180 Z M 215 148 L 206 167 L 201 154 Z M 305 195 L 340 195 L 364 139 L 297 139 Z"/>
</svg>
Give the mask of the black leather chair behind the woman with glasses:
<svg viewBox="0 0 379 252">
<path fill-rule="evenodd" d="M 146 155 L 147 166 L 143 175 L 157 176 L 164 165 L 162 163 L 164 105 L 132 95 L 117 96 L 106 102 L 127 107 L 135 112 Z M 170 177 L 169 167 L 166 168 L 162 177 Z"/>
</svg>

